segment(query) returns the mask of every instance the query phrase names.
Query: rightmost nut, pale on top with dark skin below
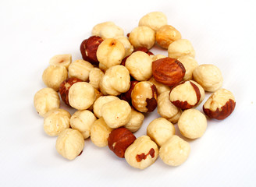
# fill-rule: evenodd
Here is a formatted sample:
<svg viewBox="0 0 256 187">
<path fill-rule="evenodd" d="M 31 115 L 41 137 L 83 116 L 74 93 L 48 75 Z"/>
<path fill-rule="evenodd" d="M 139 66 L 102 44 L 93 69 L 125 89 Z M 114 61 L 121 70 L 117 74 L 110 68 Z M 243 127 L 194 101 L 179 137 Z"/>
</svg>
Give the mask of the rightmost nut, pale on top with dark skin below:
<svg viewBox="0 0 256 187">
<path fill-rule="evenodd" d="M 233 94 L 226 89 L 219 89 L 213 93 L 204 103 L 204 114 L 209 118 L 225 119 L 236 107 L 236 101 Z"/>
</svg>

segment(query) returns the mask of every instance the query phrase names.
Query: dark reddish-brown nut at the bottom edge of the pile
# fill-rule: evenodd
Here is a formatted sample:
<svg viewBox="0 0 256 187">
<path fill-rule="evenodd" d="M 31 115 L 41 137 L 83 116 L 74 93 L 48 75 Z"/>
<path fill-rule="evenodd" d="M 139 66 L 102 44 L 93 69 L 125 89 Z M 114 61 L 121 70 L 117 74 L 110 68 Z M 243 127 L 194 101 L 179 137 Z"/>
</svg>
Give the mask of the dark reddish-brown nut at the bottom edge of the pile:
<svg viewBox="0 0 256 187">
<path fill-rule="evenodd" d="M 117 157 L 124 157 L 124 153 L 128 146 L 130 146 L 136 137 L 130 130 L 121 127 L 119 129 L 114 129 L 110 132 L 108 136 L 108 147 Z"/>
</svg>

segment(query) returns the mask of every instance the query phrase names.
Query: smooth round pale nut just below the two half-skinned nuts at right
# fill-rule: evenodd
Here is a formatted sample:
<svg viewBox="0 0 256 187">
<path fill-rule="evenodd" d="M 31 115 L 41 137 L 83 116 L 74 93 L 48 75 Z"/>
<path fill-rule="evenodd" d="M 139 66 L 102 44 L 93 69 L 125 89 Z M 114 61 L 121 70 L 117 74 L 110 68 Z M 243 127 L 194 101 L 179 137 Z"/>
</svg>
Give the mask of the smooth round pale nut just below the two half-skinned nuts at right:
<svg viewBox="0 0 256 187">
<path fill-rule="evenodd" d="M 204 135 L 207 128 L 207 119 L 201 111 L 190 108 L 183 111 L 178 127 L 183 136 L 189 139 L 197 139 Z"/>
</svg>

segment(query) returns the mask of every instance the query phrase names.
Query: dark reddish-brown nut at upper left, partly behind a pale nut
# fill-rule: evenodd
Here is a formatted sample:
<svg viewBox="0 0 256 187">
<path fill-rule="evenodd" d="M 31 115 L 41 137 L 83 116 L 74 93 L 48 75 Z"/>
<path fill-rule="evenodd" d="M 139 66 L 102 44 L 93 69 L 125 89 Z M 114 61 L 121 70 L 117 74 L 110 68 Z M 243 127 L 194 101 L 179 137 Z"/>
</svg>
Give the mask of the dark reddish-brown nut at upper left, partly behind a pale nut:
<svg viewBox="0 0 256 187">
<path fill-rule="evenodd" d="M 99 44 L 101 44 L 102 41 L 103 39 L 101 37 L 92 36 L 81 43 L 80 52 L 85 61 L 91 62 L 94 65 L 98 65 L 96 52 Z"/>
</svg>

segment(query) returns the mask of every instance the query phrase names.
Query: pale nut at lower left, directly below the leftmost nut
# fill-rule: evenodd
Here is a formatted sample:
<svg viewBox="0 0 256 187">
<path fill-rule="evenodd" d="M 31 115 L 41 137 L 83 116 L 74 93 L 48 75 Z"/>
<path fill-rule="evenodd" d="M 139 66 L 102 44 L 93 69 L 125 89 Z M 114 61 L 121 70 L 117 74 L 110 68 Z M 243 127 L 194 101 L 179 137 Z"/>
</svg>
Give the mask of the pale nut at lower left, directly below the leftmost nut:
<svg viewBox="0 0 256 187">
<path fill-rule="evenodd" d="M 69 128 L 70 114 L 68 111 L 56 108 L 44 115 L 44 132 L 49 136 L 58 136 L 62 130 Z"/>
</svg>

